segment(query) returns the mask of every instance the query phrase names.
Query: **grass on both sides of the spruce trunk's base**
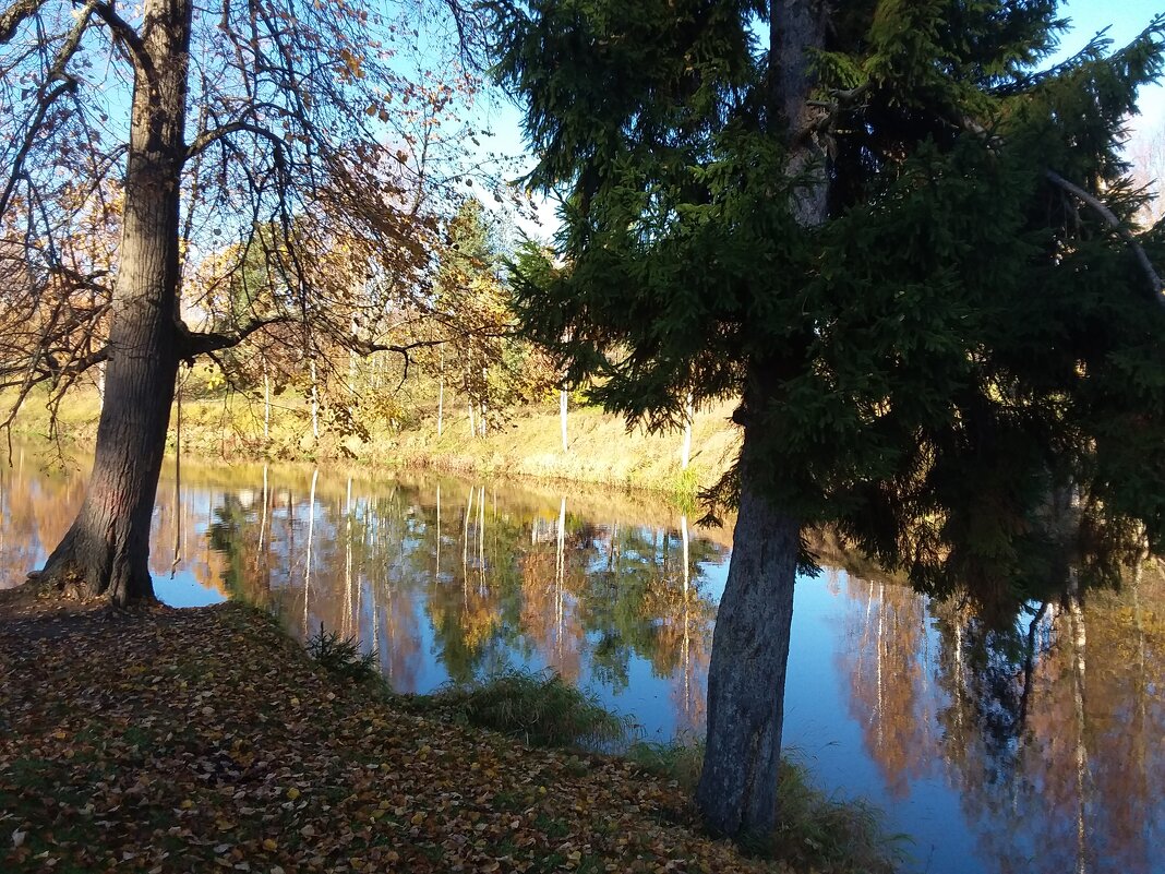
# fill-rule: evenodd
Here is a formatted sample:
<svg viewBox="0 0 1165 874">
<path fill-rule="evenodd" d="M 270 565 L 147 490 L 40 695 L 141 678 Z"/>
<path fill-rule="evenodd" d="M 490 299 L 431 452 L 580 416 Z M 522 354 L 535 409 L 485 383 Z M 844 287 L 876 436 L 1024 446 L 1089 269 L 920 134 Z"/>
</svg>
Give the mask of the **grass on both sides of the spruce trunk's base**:
<svg viewBox="0 0 1165 874">
<path fill-rule="evenodd" d="M 702 743 L 631 746 L 627 757 L 644 770 L 696 791 Z M 757 851 L 795 871 L 820 874 L 894 874 L 903 864 L 904 836 L 888 834 L 882 813 L 861 799 L 839 799 L 812 785 L 809 767 L 788 752 L 777 777 L 777 827 Z"/>
</svg>

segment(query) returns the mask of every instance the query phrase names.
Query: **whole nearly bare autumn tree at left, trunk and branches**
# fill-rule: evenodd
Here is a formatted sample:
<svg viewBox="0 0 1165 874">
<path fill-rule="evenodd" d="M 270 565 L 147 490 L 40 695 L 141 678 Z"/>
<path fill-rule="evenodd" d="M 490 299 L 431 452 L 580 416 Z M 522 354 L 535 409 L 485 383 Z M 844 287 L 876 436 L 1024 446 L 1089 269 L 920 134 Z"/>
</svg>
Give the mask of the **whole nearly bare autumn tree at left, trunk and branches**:
<svg viewBox="0 0 1165 874">
<path fill-rule="evenodd" d="M 442 121 L 472 90 L 456 64 L 447 80 L 409 72 L 403 40 L 425 26 L 424 8 L 14 0 L 0 9 L 0 255 L 6 318 L 29 326 L 3 348 L 0 382 L 61 390 L 107 364 L 89 492 L 45 584 L 118 604 L 153 595 L 148 534 L 179 361 L 276 323 L 297 324 L 309 345 L 310 332 L 333 326 L 297 242 L 359 240 L 394 289 L 423 292 L 432 199 L 458 177 L 437 162 L 465 135 Z M 111 179 L 112 275 L 77 242 Z M 268 311 L 196 330 L 183 320 L 183 277 L 231 240 L 239 269 L 264 249 L 280 295 Z M 351 340 L 347 320 L 341 329 Z M 412 348 L 372 334 L 355 345 Z"/>
</svg>

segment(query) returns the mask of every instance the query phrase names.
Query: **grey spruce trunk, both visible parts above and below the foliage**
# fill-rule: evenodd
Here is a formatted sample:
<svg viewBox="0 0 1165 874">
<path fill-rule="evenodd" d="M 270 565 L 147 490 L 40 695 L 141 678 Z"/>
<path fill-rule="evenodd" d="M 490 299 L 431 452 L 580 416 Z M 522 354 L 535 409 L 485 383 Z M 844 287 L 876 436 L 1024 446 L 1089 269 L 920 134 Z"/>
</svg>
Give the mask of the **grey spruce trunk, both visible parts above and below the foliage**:
<svg viewBox="0 0 1165 874">
<path fill-rule="evenodd" d="M 803 227 L 827 218 L 825 155 L 803 133 L 813 51 L 825 48 L 824 0 L 772 0 L 769 15 L 768 134 L 789 149 L 786 171 L 804 183 L 790 204 Z M 775 350 L 775 354 L 796 354 Z M 754 361 L 744 388 L 740 508 L 728 582 L 708 665 L 708 734 L 696 801 L 709 829 L 736 839 L 769 837 L 776 824 L 785 668 L 800 526 L 768 494 L 761 413 L 779 390 L 779 362 Z"/>
</svg>

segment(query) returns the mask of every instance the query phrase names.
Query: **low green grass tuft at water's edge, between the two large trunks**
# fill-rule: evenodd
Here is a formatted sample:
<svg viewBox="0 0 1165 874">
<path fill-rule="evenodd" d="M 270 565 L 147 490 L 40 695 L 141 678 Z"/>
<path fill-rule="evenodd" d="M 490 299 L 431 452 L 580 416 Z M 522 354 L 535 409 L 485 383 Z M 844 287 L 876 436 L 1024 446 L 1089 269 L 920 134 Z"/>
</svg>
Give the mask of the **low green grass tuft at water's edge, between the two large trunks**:
<svg viewBox="0 0 1165 874">
<path fill-rule="evenodd" d="M 630 729 L 626 717 L 552 671 L 502 671 L 468 686 L 447 686 L 425 704 L 539 747 L 601 747 L 626 740 Z"/>
</svg>

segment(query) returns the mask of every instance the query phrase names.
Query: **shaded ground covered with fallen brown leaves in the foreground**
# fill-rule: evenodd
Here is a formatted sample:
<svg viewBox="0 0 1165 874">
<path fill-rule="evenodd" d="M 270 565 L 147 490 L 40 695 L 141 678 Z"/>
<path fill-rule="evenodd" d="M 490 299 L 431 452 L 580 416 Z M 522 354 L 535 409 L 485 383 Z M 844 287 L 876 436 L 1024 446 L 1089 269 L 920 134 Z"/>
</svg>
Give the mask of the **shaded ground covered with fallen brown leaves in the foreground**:
<svg viewBox="0 0 1165 874">
<path fill-rule="evenodd" d="M 402 712 L 240 605 L 0 600 L 0 871 L 751 872 L 683 794 Z"/>
</svg>

